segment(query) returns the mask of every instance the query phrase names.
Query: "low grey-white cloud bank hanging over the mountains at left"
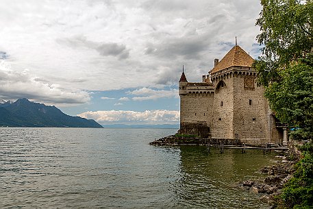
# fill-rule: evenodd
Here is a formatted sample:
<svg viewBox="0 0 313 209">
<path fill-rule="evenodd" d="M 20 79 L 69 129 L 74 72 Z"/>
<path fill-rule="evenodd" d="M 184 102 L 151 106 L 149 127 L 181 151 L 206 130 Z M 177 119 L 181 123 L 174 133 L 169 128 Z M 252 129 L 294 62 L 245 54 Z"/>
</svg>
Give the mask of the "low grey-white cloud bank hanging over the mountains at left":
<svg viewBox="0 0 313 209">
<path fill-rule="evenodd" d="M 90 101 L 89 93 L 84 90 L 64 89 L 58 84 L 43 82 L 28 69 L 22 72 L 12 71 L 4 61 L 0 63 L 0 98 L 27 98 L 63 106 Z"/>
</svg>

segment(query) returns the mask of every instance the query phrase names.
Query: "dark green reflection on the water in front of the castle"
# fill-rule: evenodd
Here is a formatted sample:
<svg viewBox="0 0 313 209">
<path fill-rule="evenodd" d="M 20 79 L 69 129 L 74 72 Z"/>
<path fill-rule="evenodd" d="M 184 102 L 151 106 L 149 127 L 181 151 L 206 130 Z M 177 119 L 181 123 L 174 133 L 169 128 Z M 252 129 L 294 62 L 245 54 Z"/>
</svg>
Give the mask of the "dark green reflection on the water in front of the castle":
<svg viewBox="0 0 313 209">
<path fill-rule="evenodd" d="M 190 208 L 268 208 L 258 195 L 240 190 L 236 184 L 250 177 L 261 177 L 258 169 L 273 156 L 251 151 L 218 149 L 208 153 L 204 146 L 181 146 L 181 178 L 177 195 L 181 204 Z M 257 162 L 257 163 L 256 163 Z"/>
</svg>

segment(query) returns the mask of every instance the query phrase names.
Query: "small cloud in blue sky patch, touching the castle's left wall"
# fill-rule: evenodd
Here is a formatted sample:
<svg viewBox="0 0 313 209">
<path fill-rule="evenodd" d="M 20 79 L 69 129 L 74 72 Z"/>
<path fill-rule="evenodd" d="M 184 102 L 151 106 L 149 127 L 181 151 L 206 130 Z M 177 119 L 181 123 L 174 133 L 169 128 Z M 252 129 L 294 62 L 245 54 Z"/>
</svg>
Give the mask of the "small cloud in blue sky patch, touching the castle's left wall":
<svg viewBox="0 0 313 209">
<path fill-rule="evenodd" d="M 153 90 L 151 88 L 139 88 L 129 92 L 130 95 L 136 95 L 140 97 L 132 97 L 134 101 L 144 101 L 144 100 L 156 100 L 161 98 L 171 98 L 178 97 L 178 90 Z"/>
</svg>

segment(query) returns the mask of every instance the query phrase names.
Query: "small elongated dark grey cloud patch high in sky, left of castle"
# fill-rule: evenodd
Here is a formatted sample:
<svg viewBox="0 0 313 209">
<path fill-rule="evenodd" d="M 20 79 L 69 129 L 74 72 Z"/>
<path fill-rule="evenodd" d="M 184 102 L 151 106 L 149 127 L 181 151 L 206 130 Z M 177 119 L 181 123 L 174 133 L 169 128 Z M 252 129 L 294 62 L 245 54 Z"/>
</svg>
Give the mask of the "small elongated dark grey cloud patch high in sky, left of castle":
<svg viewBox="0 0 313 209">
<path fill-rule="evenodd" d="M 101 56 L 115 56 L 120 60 L 129 58 L 129 49 L 126 49 L 126 46 L 123 44 L 95 42 L 87 40 L 85 36 L 74 36 L 72 38 L 63 38 L 56 41 L 68 47 L 87 47 L 89 49 L 95 49 Z"/>
</svg>

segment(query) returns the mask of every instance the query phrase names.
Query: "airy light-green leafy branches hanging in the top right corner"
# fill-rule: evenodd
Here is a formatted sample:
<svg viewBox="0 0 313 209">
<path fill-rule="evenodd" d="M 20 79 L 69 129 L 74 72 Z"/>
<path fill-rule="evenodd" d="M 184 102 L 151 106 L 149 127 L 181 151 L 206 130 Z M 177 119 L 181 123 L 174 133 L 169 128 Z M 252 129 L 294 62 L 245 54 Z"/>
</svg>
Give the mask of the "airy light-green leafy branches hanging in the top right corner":
<svg viewBox="0 0 313 209">
<path fill-rule="evenodd" d="M 306 58 L 313 49 L 313 1 L 262 0 L 256 25 L 264 45 L 263 56 L 255 63 L 262 84 L 279 81 L 279 71 L 290 62 Z"/>
</svg>

